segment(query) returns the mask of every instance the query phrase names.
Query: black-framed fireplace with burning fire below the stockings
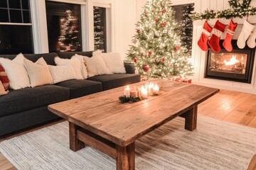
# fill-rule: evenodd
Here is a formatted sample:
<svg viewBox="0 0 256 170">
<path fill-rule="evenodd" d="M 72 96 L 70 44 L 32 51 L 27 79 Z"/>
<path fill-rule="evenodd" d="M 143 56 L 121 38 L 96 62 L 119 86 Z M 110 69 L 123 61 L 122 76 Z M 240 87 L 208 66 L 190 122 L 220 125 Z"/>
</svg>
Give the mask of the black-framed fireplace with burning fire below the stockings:
<svg viewBox="0 0 256 170">
<path fill-rule="evenodd" d="M 236 45 L 237 40 L 233 40 L 233 50 L 228 52 L 221 46 L 222 44 L 223 40 L 220 40 L 220 52 L 208 48 L 205 77 L 250 84 L 255 48 L 246 46 L 244 49 L 239 49 Z"/>
</svg>

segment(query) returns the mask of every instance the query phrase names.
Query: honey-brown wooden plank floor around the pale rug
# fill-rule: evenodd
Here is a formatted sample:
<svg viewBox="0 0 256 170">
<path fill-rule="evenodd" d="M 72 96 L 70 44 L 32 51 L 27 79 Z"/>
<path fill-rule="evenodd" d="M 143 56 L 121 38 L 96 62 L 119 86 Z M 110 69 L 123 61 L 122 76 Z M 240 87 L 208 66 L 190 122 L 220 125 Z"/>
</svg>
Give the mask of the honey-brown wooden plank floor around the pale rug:
<svg viewBox="0 0 256 170">
<path fill-rule="evenodd" d="M 256 95 L 221 90 L 220 93 L 201 103 L 198 106 L 198 113 L 256 128 Z M 0 153 L 0 169 L 16 168 Z"/>
</svg>

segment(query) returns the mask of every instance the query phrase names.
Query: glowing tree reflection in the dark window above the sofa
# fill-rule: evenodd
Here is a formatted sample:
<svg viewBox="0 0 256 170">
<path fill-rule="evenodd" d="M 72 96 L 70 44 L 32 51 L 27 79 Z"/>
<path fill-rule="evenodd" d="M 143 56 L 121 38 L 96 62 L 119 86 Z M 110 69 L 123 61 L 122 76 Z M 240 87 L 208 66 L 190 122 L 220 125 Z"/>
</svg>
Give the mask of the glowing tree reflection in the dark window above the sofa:
<svg viewBox="0 0 256 170">
<path fill-rule="evenodd" d="M 78 39 L 78 18 L 72 15 L 70 9 L 65 11 L 65 17 L 60 19 L 60 36 L 58 45 L 60 51 L 78 50 L 80 42 Z"/>
</svg>

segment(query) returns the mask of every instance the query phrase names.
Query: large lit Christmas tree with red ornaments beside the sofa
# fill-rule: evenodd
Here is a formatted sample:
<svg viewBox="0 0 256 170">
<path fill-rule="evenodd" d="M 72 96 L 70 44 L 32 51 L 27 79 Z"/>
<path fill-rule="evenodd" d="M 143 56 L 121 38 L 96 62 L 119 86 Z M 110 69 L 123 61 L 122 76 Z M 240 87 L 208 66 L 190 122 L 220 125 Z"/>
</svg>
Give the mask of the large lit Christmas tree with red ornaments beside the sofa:
<svg viewBox="0 0 256 170">
<path fill-rule="evenodd" d="M 139 74 L 148 78 L 191 75 L 186 47 L 176 32 L 178 24 L 169 0 L 149 0 L 144 6 L 137 33 L 128 51 Z"/>
</svg>

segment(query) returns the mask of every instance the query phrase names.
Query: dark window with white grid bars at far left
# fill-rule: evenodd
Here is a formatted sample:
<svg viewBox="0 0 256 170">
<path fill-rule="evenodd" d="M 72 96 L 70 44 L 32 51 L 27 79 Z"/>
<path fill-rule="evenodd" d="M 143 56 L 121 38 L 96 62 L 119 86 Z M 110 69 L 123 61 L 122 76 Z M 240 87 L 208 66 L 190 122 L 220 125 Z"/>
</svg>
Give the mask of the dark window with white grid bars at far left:
<svg viewBox="0 0 256 170">
<path fill-rule="evenodd" d="M 0 53 L 33 53 L 29 0 L 1 0 Z"/>
</svg>

